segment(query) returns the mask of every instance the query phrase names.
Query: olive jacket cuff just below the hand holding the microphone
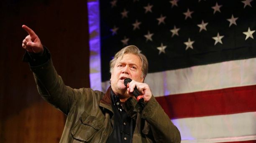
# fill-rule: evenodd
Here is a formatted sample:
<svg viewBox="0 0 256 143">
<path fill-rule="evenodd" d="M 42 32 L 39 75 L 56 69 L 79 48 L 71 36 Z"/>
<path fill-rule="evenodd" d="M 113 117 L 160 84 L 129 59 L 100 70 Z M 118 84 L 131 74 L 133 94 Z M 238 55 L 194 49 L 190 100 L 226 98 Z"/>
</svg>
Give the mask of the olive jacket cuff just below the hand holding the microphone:
<svg viewBox="0 0 256 143">
<path fill-rule="evenodd" d="M 152 95 L 151 99 L 147 102 L 146 106 L 142 111 L 142 118 L 150 118 L 154 116 L 156 109 L 158 108 L 159 103 L 156 101 L 156 98 Z"/>
</svg>

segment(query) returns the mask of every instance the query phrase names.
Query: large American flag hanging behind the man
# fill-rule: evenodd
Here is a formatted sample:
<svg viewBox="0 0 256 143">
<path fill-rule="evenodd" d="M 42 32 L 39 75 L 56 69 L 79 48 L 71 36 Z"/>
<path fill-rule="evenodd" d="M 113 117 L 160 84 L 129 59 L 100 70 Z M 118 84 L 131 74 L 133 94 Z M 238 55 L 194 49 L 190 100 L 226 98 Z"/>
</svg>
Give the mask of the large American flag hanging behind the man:
<svg viewBox="0 0 256 143">
<path fill-rule="evenodd" d="M 182 142 L 256 141 L 255 1 L 100 0 L 99 9 L 103 90 L 109 61 L 136 45 Z"/>
</svg>

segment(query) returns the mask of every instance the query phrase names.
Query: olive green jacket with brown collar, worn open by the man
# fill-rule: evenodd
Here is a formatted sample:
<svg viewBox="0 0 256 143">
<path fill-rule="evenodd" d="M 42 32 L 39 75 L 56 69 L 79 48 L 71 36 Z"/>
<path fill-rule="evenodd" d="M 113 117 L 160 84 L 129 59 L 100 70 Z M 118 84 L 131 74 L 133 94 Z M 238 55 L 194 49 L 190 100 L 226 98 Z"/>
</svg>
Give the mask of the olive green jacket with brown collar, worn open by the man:
<svg viewBox="0 0 256 143">
<path fill-rule="evenodd" d="M 105 143 L 113 131 L 110 88 L 104 94 L 90 88 L 65 86 L 51 59 L 31 67 L 38 92 L 43 99 L 67 115 L 61 143 Z M 136 99 L 128 100 L 128 114 L 136 113 L 133 143 L 179 143 L 179 130 L 164 113 L 154 96 L 140 111 Z"/>
</svg>

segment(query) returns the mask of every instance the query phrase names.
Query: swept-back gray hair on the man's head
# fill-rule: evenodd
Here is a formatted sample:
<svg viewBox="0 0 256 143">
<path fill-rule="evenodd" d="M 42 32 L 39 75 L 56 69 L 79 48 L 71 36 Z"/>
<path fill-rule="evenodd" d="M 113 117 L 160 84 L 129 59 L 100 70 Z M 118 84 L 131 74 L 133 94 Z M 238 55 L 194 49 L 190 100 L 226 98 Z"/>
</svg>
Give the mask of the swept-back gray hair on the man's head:
<svg viewBox="0 0 256 143">
<path fill-rule="evenodd" d="M 116 60 L 119 57 L 123 58 L 124 54 L 135 54 L 136 56 L 138 56 L 138 58 L 141 60 L 141 71 L 142 71 L 141 78 L 146 77 L 146 75 L 148 74 L 148 60 L 144 54 L 141 54 L 140 49 L 138 49 L 138 47 L 134 45 L 124 47 L 123 49 L 121 49 L 119 52 L 115 54 L 114 59 L 112 59 L 109 63 L 110 74 L 112 74 L 112 70 L 115 66 Z"/>
</svg>

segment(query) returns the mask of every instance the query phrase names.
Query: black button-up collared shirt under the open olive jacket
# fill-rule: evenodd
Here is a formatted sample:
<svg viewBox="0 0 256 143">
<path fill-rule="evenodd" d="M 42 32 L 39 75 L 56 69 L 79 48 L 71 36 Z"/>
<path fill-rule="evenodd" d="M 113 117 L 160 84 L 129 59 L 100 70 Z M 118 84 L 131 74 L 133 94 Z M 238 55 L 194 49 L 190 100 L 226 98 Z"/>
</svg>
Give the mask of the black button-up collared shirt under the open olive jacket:
<svg viewBox="0 0 256 143">
<path fill-rule="evenodd" d="M 114 125 L 113 132 L 110 134 L 107 143 L 132 143 L 136 121 L 134 118 L 131 118 L 126 109 L 121 106 L 119 97 L 116 96 L 112 90 L 110 94 L 114 111 Z"/>
</svg>

